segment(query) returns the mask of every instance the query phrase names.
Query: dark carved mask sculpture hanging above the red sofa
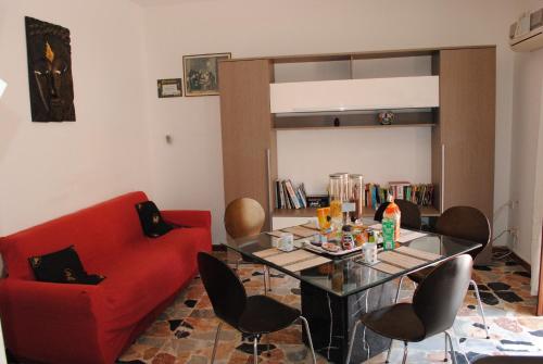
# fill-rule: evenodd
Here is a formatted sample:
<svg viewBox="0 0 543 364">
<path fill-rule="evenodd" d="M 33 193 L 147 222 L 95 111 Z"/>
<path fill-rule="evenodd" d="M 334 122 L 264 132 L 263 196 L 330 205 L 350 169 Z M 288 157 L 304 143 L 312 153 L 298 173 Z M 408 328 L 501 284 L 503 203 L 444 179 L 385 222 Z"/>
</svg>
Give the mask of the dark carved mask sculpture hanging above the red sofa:
<svg viewBox="0 0 543 364">
<path fill-rule="evenodd" d="M 25 17 L 33 122 L 75 122 L 70 30 Z"/>
</svg>

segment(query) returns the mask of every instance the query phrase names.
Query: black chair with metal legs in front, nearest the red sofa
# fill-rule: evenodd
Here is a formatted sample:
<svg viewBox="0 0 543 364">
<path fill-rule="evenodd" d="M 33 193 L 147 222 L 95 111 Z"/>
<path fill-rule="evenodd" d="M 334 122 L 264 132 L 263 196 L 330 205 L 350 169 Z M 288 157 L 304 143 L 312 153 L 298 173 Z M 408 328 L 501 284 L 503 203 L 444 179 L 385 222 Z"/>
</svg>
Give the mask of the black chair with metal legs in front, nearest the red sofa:
<svg viewBox="0 0 543 364">
<path fill-rule="evenodd" d="M 254 363 L 258 363 L 258 341 L 265 334 L 279 331 L 301 319 L 307 334 L 307 341 L 316 364 L 315 351 L 311 339 L 310 324 L 301 312 L 278 302 L 268 296 L 248 297 L 238 275 L 217 258 L 198 253 L 200 276 L 210 297 L 215 315 L 220 319 L 215 335 L 211 363 L 215 361 L 217 342 L 223 323 L 227 323 L 253 340 Z"/>
</svg>

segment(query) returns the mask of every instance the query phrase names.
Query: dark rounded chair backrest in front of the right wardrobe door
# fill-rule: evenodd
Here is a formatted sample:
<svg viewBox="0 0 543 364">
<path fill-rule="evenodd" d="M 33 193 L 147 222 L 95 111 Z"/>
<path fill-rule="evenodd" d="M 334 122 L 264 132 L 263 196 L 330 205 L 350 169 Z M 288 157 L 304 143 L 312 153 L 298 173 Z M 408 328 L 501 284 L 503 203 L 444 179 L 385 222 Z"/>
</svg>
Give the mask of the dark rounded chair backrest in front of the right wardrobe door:
<svg viewBox="0 0 543 364">
<path fill-rule="evenodd" d="M 482 212 L 470 206 L 454 206 L 447 209 L 435 224 L 435 231 L 455 238 L 477 241 L 480 249 L 469 252 L 475 260 L 490 241 L 491 229 L 489 219 Z"/>
</svg>

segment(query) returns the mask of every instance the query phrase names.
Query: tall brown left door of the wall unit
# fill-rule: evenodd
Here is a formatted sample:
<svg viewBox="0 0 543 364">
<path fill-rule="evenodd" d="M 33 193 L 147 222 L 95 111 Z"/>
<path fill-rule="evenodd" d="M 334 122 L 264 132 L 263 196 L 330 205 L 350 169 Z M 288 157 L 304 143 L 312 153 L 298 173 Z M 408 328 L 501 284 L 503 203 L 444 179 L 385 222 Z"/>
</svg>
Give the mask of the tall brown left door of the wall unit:
<svg viewBox="0 0 543 364">
<path fill-rule="evenodd" d="M 270 179 L 275 179 L 275 131 L 269 111 L 273 66 L 268 60 L 219 63 L 225 204 L 258 201 L 269 229 Z"/>
</svg>

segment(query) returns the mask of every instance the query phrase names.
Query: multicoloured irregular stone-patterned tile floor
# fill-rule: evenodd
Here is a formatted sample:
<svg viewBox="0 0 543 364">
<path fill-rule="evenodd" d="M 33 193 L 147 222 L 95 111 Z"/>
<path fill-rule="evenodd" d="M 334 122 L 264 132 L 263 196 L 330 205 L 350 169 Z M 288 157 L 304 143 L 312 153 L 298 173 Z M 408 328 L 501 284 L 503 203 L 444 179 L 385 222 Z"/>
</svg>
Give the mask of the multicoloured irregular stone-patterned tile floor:
<svg viewBox="0 0 543 364">
<path fill-rule="evenodd" d="M 240 266 L 240 275 L 249 294 L 263 291 L 263 278 L 253 265 Z M 529 293 L 529 274 L 514 261 L 495 261 L 489 267 L 473 273 L 484 301 L 491 338 L 481 329 L 472 291 L 453 327 L 453 340 L 458 363 L 467 363 L 482 355 L 543 355 L 543 317 L 533 315 L 536 298 Z M 272 297 L 293 306 L 300 306 L 299 283 L 283 275 L 274 275 Z M 404 280 L 403 300 L 409 300 L 413 285 Z M 119 357 L 118 363 L 204 364 L 210 361 L 217 319 L 210 300 L 197 277 L 175 303 Z M 260 363 L 311 363 L 311 354 L 301 343 L 301 326 L 295 325 L 269 335 L 272 349 L 258 355 Z M 409 344 L 409 363 L 443 361 L 444 339 L 434 336 L 420 343 Z M 458 350 L 459 346 L 459 350 Z M 391 363 L 402 359 L 403 344 L 395 341 Z M 215 363 L 253 363 L 252 347 L 232 328 L 223 328 Z M 384 353 L 368 363 L 383 363 Z M 543 362 L 543 359 L 542 359 Z M 327 363 L 318 357 L 318 363 Z"/>
</svg>

